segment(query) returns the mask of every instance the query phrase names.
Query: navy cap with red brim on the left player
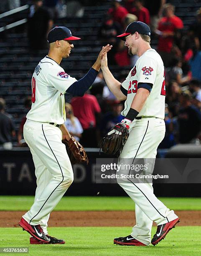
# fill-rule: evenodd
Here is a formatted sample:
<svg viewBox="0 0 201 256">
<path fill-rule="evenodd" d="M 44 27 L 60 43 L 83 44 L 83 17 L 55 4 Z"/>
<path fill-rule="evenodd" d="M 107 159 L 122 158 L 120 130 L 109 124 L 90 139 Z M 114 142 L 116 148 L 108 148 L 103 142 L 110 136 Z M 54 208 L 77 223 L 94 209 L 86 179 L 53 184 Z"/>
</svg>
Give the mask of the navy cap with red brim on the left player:
<svg viewBox="0 0 201 256">
<path fill-rule="evenodd" d="M 72 33 L 69 28 L 66 27 L 54 27 L 48 33 L 48 43 L 51 44 L 57 40 L 79 40 L 81 38 L 72 36 Z"/>
</svg>

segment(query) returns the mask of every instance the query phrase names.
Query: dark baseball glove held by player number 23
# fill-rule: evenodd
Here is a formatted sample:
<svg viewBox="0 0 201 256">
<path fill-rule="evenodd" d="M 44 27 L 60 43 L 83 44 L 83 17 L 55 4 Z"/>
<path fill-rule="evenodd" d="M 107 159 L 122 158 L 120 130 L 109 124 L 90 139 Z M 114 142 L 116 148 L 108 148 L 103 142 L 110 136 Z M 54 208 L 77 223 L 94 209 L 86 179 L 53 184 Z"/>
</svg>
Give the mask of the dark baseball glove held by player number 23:
<svg viewBox="0 0 201 256">
<path fill-rule="evenodd" d="M 100 150 L 105 154 L 119 156 L 128 136 L 128 128 L 122 123 L 117 123 L 100 141 Z"/>
</svg>

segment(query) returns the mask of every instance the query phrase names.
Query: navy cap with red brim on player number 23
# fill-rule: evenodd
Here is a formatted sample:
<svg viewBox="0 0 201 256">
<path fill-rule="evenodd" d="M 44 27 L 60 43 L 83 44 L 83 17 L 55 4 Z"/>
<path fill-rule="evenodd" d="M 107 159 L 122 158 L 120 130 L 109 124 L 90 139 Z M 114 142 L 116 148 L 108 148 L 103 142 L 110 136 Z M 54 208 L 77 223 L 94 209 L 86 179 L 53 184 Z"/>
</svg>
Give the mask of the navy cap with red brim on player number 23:
<svg viewBox="0 0 201 256">
<path fill-rule="evenodd" d="M 123 33 L 117 37 L 122 37 L 121 39 L 126 41 L 125 36 L 128 36 L 135 32 L 138 32 L 140 34 L 144 34 L 147 36 L 151 35 L 150 27 L 147 24 L 145 24 L 144 22 L 141 22 L 141 21 L 133 21 L 132 23 L 130 23 L 127 26 L 125 33 Z"/>
</svg>

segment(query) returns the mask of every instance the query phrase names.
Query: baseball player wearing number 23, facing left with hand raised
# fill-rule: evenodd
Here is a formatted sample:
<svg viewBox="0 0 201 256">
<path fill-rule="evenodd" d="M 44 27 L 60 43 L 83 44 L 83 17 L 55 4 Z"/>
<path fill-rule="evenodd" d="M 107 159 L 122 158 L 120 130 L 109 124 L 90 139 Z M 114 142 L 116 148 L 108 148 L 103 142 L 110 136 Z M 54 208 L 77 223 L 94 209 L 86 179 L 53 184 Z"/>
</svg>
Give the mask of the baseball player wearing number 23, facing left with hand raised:
<svg viewBox="0 0 201 256">
<path fill-rule="evenodd" d="M 125 41 L 128 53 L 137 54 L 139 59 L 121 84 L 107 67 L 107 54 L 102 58 L 101 68 L 109 89 L 118 100 L 125 100 L 125 108 L 122 111 L 125 118 L 117 124 L 117 130 L 114 125 L 111 132 L 118 131 L 122 126 L 130 133 L 120 159 L 155 159 L 158 145 L 165 135 L 163 61 L 150 47 L 150 28 L 145 23 L 130 23 L 125 33 L 118 37 Z M 134 183 L 130 178 L 119 178 L 117 182 L 135 202 L 136 225 L 131 235 L 114 238 L 114 243 L 148 246 L 150 243 L 155 245 L 160 242 L 179 222 L 178 216 L 155 197 L 152 183 Z M 153 221 L 158 227 L 151 240 Z"/>
</svg>

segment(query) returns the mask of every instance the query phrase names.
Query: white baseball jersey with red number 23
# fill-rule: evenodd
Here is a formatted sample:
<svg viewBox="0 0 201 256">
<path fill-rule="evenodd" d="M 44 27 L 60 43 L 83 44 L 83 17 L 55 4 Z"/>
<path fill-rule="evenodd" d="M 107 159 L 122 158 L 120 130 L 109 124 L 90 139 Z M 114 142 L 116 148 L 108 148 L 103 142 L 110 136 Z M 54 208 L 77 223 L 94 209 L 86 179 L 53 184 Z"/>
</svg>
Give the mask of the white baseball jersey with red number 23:
<svg viewBox="0 0 201 256">
<path fill-rule="evenodd" d="M 127 100 L 122 115 L 126 116 L 137 92 L 137 84 L 153 84 L 150 95 L 142 107 L 140 116 L 149 116 L 164 119 L 165 116 L 165 77 L 164 65 L 160 55 L 154 50 L 145 51 L 137 60 L 135 67 L 130 71 L 122 87 L 127 90 Z"/>
</svg>

